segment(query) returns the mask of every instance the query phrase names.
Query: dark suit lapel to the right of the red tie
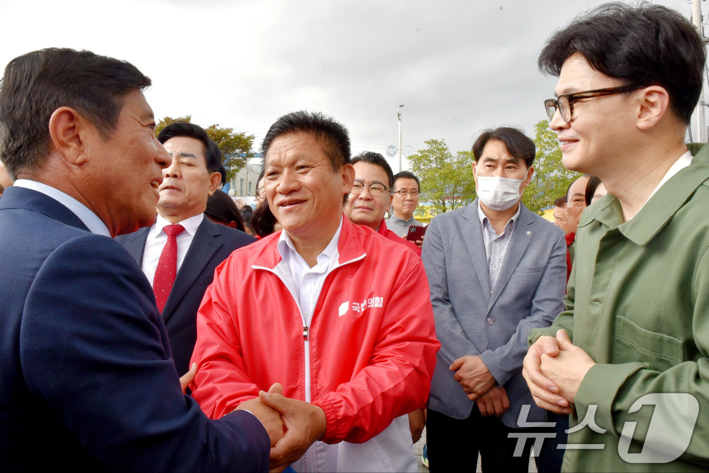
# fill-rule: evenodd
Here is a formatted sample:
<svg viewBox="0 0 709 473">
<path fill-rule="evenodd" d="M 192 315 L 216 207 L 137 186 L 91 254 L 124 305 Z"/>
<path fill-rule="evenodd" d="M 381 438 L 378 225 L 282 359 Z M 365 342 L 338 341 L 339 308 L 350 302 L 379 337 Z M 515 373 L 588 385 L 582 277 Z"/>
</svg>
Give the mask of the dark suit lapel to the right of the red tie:
<svg viewBox="0 0 709 473">
<path fill-rule="evenodd" d="M 222 243 L 218 237 L 221 235 L 221 230 L 218 223 L 213 223 L 206 216 L 202 223 L 197 227 L 194 233 L 192 243 L 189 245 L 189 250 L 184 257 L 184 261 L 177 272 L 175 282 L 172 285 L 172 291 L 167 297 L 167 302 L 162 310 L 162 318 L 164 321 L 172 316 L 175 308 L 184 299 L 187 291 L 192 287 L 197 278 L 202 274 L 209 260 L 212 259 L 214 253 L 219 249 Z"/>
</svg>

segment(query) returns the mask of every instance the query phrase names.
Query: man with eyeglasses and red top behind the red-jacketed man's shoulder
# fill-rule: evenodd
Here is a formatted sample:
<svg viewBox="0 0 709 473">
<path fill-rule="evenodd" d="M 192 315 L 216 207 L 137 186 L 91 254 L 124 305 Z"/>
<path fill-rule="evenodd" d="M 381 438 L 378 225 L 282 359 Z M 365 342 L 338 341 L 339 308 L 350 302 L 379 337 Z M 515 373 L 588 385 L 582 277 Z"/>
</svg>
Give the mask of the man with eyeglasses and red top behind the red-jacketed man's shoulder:
<svg viewBox="0 0 709 473">
<path fill-rule="evenodd" d="M 384 215 L 393 199 L 390 190 L 393 172 L 384 156 L 378 152 L 364 151 L 352 158 L 352 165 L 354 185 L 345 202 L 345 216 L 352 223 L 372 228 L 384 238 L 406 245 L 420 256 L 421 249 L 415 243 L 399 237 L 386 227 Z"/>
</svg>

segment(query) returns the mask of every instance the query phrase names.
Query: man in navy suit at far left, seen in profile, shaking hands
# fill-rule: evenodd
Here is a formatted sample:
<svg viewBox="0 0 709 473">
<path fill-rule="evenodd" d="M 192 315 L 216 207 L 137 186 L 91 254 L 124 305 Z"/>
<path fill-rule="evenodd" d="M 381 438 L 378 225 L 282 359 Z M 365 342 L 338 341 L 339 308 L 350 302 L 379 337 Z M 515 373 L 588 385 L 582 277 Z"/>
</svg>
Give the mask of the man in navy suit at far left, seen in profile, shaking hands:
<svg viewBox="0 0 709 473">
<path fill-rule="evenodd" d="M 89 51 L 30 52 L 5 69 L 0 160 L 15 183 L 0 201 L 8 471 L 266 471 L 283 435 L 259 399 L 211 421 L 184 396 L 150 284 L 111 238 L 152 225 L 171 163 L 153 133 L 149 85 L 130 63 Z"/>
</svg>

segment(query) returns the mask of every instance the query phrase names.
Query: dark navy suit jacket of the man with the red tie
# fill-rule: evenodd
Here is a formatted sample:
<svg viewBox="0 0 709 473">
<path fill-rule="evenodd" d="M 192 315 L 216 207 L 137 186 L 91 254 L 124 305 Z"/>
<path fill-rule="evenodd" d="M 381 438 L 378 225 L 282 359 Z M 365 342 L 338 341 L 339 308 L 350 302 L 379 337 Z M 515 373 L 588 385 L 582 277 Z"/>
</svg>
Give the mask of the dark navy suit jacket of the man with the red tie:
<svg viewBox="0 0 709 473">
<path fill-rule="evenodd" d="M 143 250 L 149 230 L 150 227 L 140 228 L 135 233 L 116 237 L 139 266 L 143 264 Z M 162 309 L 162 320 L 167 328 L 178 374 L 189 371 L 189 360 L 197 341 L 197 309 L 207 286 L 214 279 L 214 269 L 231 252 L 255 241 L 256 238 L 214 223 L 206 216 L 199 224 Z"/>
</svg>

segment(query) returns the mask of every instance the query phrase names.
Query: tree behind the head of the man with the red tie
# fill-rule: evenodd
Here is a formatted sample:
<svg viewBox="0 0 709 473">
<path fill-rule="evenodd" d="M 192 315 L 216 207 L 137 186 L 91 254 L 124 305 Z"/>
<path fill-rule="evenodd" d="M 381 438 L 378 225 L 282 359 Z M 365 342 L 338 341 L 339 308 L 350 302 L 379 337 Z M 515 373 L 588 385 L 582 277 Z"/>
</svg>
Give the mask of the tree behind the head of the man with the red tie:
<svg viewBox="0 0 709 473">
<path fill-rule="evenodd" d="M 175 121 L 192 120 L 191 115 L 172 118 L 166 116 L 160 123 L 155 125 L 155 135 L 157 136 L 162 128 Z M 227 180 L 230 181 L 239 169 L 246 165 L 248 158 L 254 156 L 252 146 L 254 144 L 254 135 L 247 135 L 243 132 L 235 132 L 234 128 L 223 128 L 218 123 L 205 128 L 209 138 L 217 144 L 222 152 L 222 162 L 226 168 Z"/>
</svg>

